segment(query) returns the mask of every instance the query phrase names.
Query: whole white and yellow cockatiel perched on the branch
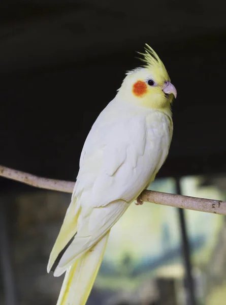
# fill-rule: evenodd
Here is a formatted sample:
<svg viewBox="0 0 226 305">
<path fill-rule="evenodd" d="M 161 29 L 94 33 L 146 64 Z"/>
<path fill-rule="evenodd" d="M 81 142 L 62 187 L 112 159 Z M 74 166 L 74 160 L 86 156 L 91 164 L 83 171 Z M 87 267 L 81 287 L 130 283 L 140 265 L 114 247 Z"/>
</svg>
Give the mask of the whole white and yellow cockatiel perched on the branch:
<svg viewBox="0 0 226 305">
<path fill-rule="evenodd" d="M 141 53 L 140 53 L 141 54 Z M 111 227 L 154 180 L 168 155 L 177 92 L 146 44 L 143 68 L 126 74 L 84 143 L 71 204 L 50 254 L 54 276 L 66 271 L 57 305 L 83 305 L 101 265 Z M 116 245 L 117 247 L 117 245 Z"/>
</svg>

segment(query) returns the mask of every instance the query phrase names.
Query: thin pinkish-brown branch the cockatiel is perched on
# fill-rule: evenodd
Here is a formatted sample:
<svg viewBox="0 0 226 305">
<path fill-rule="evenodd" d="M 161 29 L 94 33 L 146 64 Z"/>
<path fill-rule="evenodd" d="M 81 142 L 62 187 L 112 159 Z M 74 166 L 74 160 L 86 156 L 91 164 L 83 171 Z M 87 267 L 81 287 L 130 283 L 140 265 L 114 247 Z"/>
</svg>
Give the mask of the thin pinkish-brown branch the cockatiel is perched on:
<svg viewBox="0 0 226 305">
<path fill-rule="evenodd" d="M 66 193 L 72 193 L 75 185 L 75 182 L 72 181 L 42 178 L 5 166 L 0 166 L 0 176 L 17 180 L 33 187 Z M 188 197 L 148 190 L 142 192 L 141 200 L 161 205 L 226 215 L 226 201 L 221 200 Z"/>
</svg>

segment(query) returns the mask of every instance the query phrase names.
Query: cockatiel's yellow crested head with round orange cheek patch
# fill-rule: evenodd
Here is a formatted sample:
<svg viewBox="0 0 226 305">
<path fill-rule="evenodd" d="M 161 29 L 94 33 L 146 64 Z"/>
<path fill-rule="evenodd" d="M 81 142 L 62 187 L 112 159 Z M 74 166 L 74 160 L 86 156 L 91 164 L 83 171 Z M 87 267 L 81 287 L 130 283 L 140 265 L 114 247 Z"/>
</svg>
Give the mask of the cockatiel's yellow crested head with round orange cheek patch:
<svg viewBox="0 0 226 305">
<path fill-rule="evenodd" d="M 139 106 L 170 109 L 177 91 L 163 62 L 147 44 L 145 53 L 140 54 L 143 56 L 144 67 L 127 72 L 118 95 Z"/>
</svg>

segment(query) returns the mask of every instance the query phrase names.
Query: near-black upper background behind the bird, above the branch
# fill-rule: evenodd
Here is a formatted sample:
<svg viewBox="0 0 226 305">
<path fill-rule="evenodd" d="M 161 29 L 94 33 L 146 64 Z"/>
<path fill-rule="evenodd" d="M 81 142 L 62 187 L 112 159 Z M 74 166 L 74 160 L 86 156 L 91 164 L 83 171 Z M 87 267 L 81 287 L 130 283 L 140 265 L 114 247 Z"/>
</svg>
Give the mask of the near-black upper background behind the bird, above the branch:
<svg viewBox="0 0 226 305">
<path fill-rule="evenodd" d="M 81 149 L 148 43 L 178 91 L 158 176 L 226 170 L 223 0 L 2 1 L 1 164 L 75 180 Z M 21 187 L 1 179 L 5 188 Z"/>
</svg>

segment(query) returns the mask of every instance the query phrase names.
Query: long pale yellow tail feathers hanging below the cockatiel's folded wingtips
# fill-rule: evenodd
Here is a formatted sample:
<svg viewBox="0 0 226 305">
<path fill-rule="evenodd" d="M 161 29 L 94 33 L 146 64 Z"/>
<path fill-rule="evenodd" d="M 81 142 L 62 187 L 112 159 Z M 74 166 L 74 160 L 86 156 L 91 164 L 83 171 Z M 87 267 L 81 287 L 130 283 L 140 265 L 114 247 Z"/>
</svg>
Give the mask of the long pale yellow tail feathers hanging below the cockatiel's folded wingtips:
<svg viewBox="0 0 226 305">
<path fill-rule="evenodd" d="M 110 230 L 68 267 L 57 305 L 84 305 L 98 274 Z"/>
</svg>

